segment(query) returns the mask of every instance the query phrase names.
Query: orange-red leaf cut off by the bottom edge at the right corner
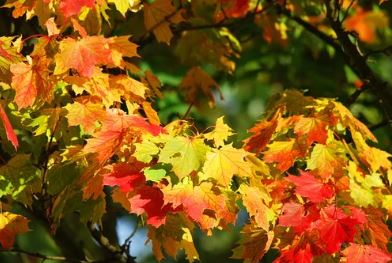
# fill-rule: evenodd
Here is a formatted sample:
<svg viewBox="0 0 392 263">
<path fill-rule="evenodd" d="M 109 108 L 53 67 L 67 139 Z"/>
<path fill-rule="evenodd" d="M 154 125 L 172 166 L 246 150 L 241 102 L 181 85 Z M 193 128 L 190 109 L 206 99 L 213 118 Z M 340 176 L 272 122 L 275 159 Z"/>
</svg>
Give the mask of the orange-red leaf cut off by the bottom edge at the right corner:
<svg viewBox="0 0 392 263">
<path fill-rule="evenodd" d="M 346 257 L 346 263 L 388 263 L 392 260 L 391 254 L 384 252 L 379 248 L 350 243 L 350 246 L 343 250 Z"/>
</svg>

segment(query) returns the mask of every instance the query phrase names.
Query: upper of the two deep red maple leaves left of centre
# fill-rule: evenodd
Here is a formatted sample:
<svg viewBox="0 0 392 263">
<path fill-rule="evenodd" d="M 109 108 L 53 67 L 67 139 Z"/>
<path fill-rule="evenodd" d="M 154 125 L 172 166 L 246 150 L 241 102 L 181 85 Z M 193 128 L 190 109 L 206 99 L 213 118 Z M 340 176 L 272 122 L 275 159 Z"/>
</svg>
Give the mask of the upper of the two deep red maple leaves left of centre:
<svg viewBox="0 0 392 263">
<path fill-rule="evenodd" d="M 112 171 L 103 175 L 103 184 L 119 186 L 124 193 L 133 192 L 144 185 L 146 178 L 140 172 L 141 167 L 135 164 L 119 163 L 112 166 Z"/>
</svg>

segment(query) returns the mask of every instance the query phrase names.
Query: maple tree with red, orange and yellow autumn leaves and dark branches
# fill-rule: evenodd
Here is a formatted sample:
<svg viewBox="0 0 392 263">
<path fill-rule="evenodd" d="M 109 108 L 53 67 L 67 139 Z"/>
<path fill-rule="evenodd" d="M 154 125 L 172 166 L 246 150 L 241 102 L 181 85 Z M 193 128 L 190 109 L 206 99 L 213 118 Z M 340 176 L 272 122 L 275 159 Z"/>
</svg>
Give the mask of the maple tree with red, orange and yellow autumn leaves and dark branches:
<svg viewBox="0 0 392 263">
<path fill-rule="evenodd" d="M 158 261 L 182 250 L 200 260 L 197 233 L 235 225 L 231 258 L 242 262 L 271 251 L 274 262 L 392 260 L 392 156 L 348 109 L 367 93 L 383 118 L 373 130 L 391 124 L 391 79 L 370 60 L 390 53 L 389 1 L 8 0 L 1 12 L 13 26 L 0 36 L 0 254 L 135 262 L 132 234 L 105 236 L 105 217 L 126 211 Z M 224 99 L 214 73 L 235 74 L 248 50 L 287 48 L 302 32 L 345 66 L 339 92 L 351 95 L 286 89 L 243 139 L 223 116 L 204 131 L 189 118 Z M 174 92 L 188 105 L 174 120 L 159 106 L 165 76 L 146 66 L 165 56 L 179 58 Z M 15 242 L 42 221 L 61 244 L 68 220 L 103 252 Z"/>
</svg>

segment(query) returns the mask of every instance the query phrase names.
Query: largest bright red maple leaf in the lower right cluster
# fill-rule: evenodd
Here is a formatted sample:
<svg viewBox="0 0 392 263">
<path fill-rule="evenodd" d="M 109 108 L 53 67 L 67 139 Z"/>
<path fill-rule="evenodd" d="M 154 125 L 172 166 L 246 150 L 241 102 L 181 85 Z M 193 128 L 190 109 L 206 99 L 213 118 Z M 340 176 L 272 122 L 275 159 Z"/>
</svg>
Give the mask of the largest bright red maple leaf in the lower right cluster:
<svg viewBox="0 0 392 263">
<path fill-rule="evenodd" d="M 339 251 L 344 242 L 352 242 L 358 221 L 350 218 L 340 208 L 328 206 L 321 211 L 321 218 L 312 224 L 319 232 L 319 246 L 327 253 Z"/>
</svg>

